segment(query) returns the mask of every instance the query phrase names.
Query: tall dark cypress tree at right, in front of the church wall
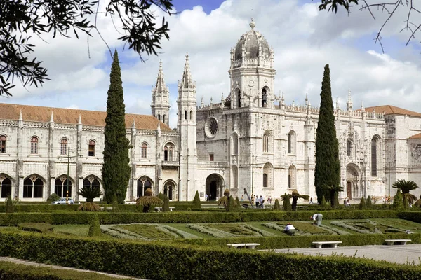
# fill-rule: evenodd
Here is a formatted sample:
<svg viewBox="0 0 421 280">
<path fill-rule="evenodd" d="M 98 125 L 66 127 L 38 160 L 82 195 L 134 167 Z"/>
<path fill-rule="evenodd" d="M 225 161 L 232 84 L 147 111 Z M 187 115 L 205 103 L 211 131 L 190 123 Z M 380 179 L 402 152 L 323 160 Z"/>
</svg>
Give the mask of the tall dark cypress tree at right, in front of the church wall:
<svg viewBox="0 0 421 280">
<path fill-rule="evenodd" d="M 336 138 L 335 116 L 333 115 L 332 91 L 330 90 L 330 70 L 326 64 L 320 92 L 320 112 L 316 130 L 316 167 L 314 186 L 317 200 L 328 197 L 323 186 L 340 186 L 339 144 Z"/>
</svg>

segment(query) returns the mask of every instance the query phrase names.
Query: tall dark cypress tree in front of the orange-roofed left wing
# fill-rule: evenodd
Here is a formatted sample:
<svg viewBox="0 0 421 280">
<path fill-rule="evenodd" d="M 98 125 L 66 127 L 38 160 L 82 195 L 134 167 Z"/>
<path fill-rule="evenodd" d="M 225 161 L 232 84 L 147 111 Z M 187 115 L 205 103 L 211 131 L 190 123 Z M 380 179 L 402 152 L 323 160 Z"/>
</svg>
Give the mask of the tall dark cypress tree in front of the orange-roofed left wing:
<svg viewBox="0 0 421 280">
<path fill-rule="evenodd" d="M 109 74 L 109 90 L 107 99 L 107 118 L 105 118 L 104 164 L 102 165 L 102 182 L 105 199 L 112 203 L 112 197 L 117 196 L 117 202 L 126 200 L 130 165 L 128 164 L 128 149 L 131 148 L 126 138 L 125 106 L 119 55 L 114 52 L 114 60 Z"/>
</svg>

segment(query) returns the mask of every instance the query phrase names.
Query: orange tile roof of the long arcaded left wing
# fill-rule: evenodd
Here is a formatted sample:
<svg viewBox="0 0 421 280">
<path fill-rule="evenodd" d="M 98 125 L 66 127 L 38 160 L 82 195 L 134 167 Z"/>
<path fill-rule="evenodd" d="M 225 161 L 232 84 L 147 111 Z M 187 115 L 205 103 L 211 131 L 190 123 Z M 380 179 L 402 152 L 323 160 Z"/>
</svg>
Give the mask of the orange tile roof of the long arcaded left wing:
<svg viewBox="0 0 421 280">
<path fill-rule="evenodd" d="M 104 127 L 105 117 L 107 116 L 107 112 L 102 111 L 0 103 L 0 119 L 18 120 L 21 110 L 23 120 L 44 123 L 48 123 L 50 121 L 51 112 L 53 112 L 54 123 L 76 125 L 79 121 L 80 114 L 82 125 L 97 125 Z M 140 130 L 156 130 L 159 122 L 159 120 L 154 116 L 126 113 L 126 128 L 132 127 L 133 120 L 135 121 L 136 128 Z M 170 127 L 162 122 L 160 122 L 160 127 L 161 130 L 171 130 Z"/>
</svg>

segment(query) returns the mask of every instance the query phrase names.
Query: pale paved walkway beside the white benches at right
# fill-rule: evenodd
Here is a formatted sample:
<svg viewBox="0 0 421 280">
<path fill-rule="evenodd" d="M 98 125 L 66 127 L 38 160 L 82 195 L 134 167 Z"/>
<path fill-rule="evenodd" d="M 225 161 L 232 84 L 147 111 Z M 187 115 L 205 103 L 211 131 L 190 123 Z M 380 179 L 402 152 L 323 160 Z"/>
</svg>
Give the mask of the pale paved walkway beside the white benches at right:
<svg viewBox="0 0 421 280">
<path fill-rule="evenodd" d="M 387 262 L 420 264 L 421 244 L 406 245 L 368 245 L 338 248 L 295 248 L 276 249 L 276 253 L 300 253 L 304 255 L 347 255 L 357 258 L 386 260 Z"/>
</svg>

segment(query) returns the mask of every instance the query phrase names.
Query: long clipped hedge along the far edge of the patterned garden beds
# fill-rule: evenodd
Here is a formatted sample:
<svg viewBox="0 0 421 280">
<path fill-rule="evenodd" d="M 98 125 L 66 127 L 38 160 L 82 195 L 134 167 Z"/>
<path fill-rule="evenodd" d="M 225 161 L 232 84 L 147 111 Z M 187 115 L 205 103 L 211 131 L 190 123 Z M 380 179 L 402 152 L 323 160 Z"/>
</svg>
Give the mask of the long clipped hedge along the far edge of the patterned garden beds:
<svg viewBox="0 0 421 280">
<path fill-rule="evenodd" d="M 175 211 L 161 213 L 95 212 L 100 223 L 234 223 L 249 221 L 306 221 L 314 211 Z M 321 211 L 325 219 L 398 218 L 397 211 Z M 417 212 L 421 213 L 421 212 Z M 83 211 L 54 211 L 49 213 L 0 214 L 0 225 L 18 223 L 88 224 L 94 213 Z M 415 212 L 416 214 L 416 212 Z"/>
</svg>

